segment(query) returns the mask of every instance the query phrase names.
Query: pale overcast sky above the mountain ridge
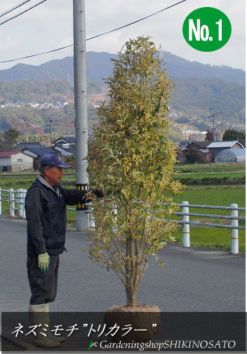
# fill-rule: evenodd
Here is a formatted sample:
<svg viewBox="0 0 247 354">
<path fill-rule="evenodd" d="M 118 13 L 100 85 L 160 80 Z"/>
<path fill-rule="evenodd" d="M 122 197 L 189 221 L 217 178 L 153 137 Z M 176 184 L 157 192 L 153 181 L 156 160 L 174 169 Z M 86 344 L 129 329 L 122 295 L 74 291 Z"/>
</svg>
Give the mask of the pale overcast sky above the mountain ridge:
<svg viewBox="0 0 247 354">
<path fill-rule="evenodd" d="M 14 15 L 39 0 L 29 1 Z M 85 0 L 86 37 L 114 29 L 128 22 L 159 11 L 179 0 Z M 19 4 L 21 0 L 1 0 L 0 13 Z M 0 61 L 39 53 L 73 43 L 72 0 L 47 0 L 44 4 L 0 26 Z M 211 6 L 223 11 L 232 23 L 232 36 L 227 44 L 215 52 L 203 53 L 191 48 L 182 36 L 182 24 L 186 16 L 196 8 Z M 9 15 L 6 15 L 8 18 Z M 4 17 L 1 18 L 4 20 Z M 147 20 L 87 41 L 86 50 L 116 53 L 130 38 L 149 35 L 163 50 L 196 60 L 204 64 L 224 64 L 245 69 L 245 1 L 244 0 L 187 0 Z M 73 55 L 73 49 L 41 55 L 26 64 L 41 64 L 48 60 Z M 0 64 L 8 69 L 18 62 Z"/>
</svg>

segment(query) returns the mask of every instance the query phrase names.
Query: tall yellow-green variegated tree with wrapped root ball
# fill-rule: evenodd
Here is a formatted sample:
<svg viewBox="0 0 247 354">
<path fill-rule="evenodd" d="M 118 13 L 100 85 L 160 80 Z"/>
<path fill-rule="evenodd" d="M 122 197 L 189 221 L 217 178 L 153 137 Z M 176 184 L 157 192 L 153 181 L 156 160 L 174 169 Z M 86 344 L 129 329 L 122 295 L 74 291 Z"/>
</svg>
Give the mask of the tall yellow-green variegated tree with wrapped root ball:
<svg viewBox="0 0 247 354">
<path fill-rule="evenodd" d="M 126 290 L 126 304 L 110 308 L 106 320 L 109 313 L 120 311 L 133 322 L 143 324 L 140 313 L 149 322 L 154 317 L 147 314 L 155 313 L 159 321 L 159 308 L 138 304 L 137 294 L 148 258 L 154 255 L 158 260 L 157 252 L 173 241 L 176 225 L 162 219 L 175 209 L 173 195 L 182 186 L 172 178 L 176 151 L 168 137 L 167 104 L 173 84 L 157 52 L 149 37 L 139 36 L 112 59 L 113 74 L 106 80 L 109 102 L 98 108 L 89 143 L 91 184 L 109 200 L 102 207 L 90 196 L 95 230 L 89 256 L 114 271 Z M 142 340 L 155 332 L 150 329 L 145 337 L 142 332 Z"/>
</svg>

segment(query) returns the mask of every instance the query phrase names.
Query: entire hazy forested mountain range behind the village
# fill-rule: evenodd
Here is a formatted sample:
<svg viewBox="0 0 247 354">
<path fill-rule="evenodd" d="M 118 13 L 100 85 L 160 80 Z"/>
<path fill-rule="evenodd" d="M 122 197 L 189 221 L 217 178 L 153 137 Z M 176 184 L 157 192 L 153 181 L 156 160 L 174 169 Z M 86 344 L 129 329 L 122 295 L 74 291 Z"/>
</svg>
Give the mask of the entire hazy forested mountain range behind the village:
<svg viewBox="0 0 247 354">
<path fill-rule="evenodd" d="M 177 129 L 179 134 L 182 129 L 187 128 L 212 128 L 212 120 L 204 118 L 215 112 L 221 112 L 218 130 L 224 132 L 229 127 L 239 130 L 244 128 L 243 70 L 191 62 L 169 52 L 161 52 L 160 55 L 171 81 L 175 83 L 173 100 L 169 102 L 169 116 L 174 123 L 173 128 Z M 113 62 L 109 60 L 111 57 L 116 59 L 118 55 L 105 52 L 86 54 L 88 112 L 91 123 L 97 119 L 96 108 L 93 106 L 107 98 L 107 88 L 102 87 L 105 85 L 102 78 L 107 79 L 112 74 Z M 10 69 L 0 70 L 0 104 L 4 106 L 6 102 L 73 102 L 73 67 L 73 57 L 65 57 L 38 66 L 16 64 Z M 32 107 L 0 108 L 0 130 L 15 128 L 22 117 L 23 126 L 26 126 L 27 122 L 36 122 L 36 125 L 46 131 L 48 127 L 44 124 L 44 119 L 49 116 L 67 122 L 68 119 L 74 119 L 74 109 L 70 107 L 62 111 L 48 111 Z M 30 132 L 36 132 L 36 128 L 28 129 Z"/>
</svg>

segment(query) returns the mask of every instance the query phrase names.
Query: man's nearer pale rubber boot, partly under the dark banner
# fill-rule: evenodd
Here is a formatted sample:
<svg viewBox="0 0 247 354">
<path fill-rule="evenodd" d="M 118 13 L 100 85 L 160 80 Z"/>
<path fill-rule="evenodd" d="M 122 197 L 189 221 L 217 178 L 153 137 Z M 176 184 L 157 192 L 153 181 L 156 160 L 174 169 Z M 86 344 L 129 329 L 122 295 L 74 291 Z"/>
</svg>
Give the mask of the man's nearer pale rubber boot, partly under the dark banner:
<svg viewBox="0 0 247 354">
<path fill-rule="evenodd" d="M 47 323 L 47 313 L 45 312 L 45 304 L 41 305 L 29 305 L 29 322 L 30 326 L 38 325 L 38 327 L 34 330 L 36 336 L 32 344 L 34 346 L 40 346 L 42 348 L 55 348 L 60 346 L 58 341 L 53 341 L 53 339 L 48 337 L 48 325 Z M 39 324 L 42 326 L 39 327 Z M 46 334 L 44 336 L 43 334 Z"/>
</svg>

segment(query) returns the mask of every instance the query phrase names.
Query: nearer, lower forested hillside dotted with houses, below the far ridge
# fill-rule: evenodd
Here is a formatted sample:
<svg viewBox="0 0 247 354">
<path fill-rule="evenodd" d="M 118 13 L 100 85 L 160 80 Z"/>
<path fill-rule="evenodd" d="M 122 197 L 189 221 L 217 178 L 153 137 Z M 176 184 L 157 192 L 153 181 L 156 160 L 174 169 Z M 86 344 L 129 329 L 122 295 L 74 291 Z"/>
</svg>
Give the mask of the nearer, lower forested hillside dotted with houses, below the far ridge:
<svg viewBox="0 0 247 354">
<path fill-rule="evenodd" d="M 206 130 L 211 125 L 207 121 L 200 120 L 209 116 L 212 112 L 222 112 L 220 121 L 234 125 L 243 125 L 245 120 L 245 89 L 239 83 L 230 83 L 220 79 L 199 78 L 171 78 L 175 83 L 173 100 L 169 102 L 171 118 L 174 123 L 193 120 L 190 128 Z M 88 103 L 90 99 L 106 100 L 106 92 L 102 93 L 102 87 L 96 83 L 88 84 Z M 99 93 L 102 93 L 99 95 Z M 64 122 L 74 118 L 74 93 L 67 81 L 25 81 L 25 82 L 0 82 L 0 130 L 15 127 L 20 117 L 25 121 L 36 121 L 43 125 L 44 119 L 49 115 Z M 9 107 L 8 102 L 15 102 L 20 106 Z M 18 103 L 19 102 L 19 103 Z M 71 109 L 66 108 L 54 111 L 51 109 L 34 109 L 30 103 L 55 103 L 71 102 Z M 95 120 L 95 107 L 88 106 L 89 117 Z M 29 107 L 25 108 L 24 106 Z M 27 110 L 28 109 L 28 110 Z M 32 118 L 33 115 L 33 118 Z M 27 118 L 28 116 L 28 118 Z M 196 123 L 195 118 L 199 121 Z M 208 125 L 209 124 L 209 125 Z M 182 126 L 181 126 L 182 127 Z M 47 128 L 48 129 L 48 128 Z M 33 131 L 33 130 L 32 130 Z"/>
</svg>

